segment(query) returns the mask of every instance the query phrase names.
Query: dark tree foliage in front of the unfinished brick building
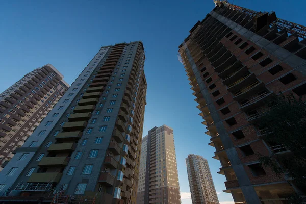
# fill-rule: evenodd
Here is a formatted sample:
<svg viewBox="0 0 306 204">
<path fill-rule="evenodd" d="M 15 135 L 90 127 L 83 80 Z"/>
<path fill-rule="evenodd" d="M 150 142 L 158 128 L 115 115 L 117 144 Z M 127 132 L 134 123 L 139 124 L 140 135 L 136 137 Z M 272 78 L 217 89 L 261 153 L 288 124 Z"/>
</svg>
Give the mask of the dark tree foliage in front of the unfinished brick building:
<svg viewBox="0 0 306 204">
<path fill-rule="evenodd" d="M 258 155 L 263 166 L 272 168 L 278 175 L 288 175 L 301 189 L 306 189 L 306 104 L 292 94 L 275 96 L 256 123 L 265 130 L 262 138 L 279 152 L 289 154 Z M 282 164 L 282 165 L 279 165 Z"/>
</svg>

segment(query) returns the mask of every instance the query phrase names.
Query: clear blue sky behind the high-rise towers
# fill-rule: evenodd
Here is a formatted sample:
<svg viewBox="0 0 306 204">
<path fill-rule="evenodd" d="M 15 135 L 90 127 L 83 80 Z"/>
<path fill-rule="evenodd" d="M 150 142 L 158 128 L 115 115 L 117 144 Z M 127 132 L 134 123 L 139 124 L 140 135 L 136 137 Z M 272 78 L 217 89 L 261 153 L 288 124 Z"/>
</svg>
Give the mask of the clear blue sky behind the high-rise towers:
<svg viewBox="0 0 306 204">
<path fill-rule="evenodd" d="M 300 1 L 302 2 L 302 1 Z M 257 11 L 275 11 L 279 18 L 305 25 L 305 3 L 289 0 L 236 0 Z M 302 5 L 303 4 L 303 5 Z M 142 40 L 148 83 L 144 133 L 154 126 L 174 129 L 182 203 L 191 203 L 185 158 L 208 159 L 222 204 L 232 203 L 225 177 L 216 172 L 214 148 L 198 115 L 178 46 L 189 30 L 214 8 L 213 0 L 131 1 L 2 1 L 0 3 L 0 92 L 25 73 L 54 65 L 71 84 L 100 46 Z"/>
</svg>

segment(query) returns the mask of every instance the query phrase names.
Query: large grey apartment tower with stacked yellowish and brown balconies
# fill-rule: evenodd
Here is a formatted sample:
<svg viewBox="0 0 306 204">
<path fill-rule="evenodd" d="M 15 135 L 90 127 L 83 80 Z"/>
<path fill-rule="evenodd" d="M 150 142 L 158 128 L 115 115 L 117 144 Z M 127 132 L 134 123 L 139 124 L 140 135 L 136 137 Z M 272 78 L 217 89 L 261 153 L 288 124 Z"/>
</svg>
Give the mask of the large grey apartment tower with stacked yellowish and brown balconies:
<svg viewBox="0 0 306 204">
<path fill-rule="evenodd" d="M 135 203 L 146 105 L 144 60 L 140 41 L 101 47 L 0 173 L 3 191 L 11 187 L 11 194 L 51 201 L 47 196 L 54 189 L 61 203 L 67 195 L 79 203 L 91 195 L 95 203 Z"/>
</svg>

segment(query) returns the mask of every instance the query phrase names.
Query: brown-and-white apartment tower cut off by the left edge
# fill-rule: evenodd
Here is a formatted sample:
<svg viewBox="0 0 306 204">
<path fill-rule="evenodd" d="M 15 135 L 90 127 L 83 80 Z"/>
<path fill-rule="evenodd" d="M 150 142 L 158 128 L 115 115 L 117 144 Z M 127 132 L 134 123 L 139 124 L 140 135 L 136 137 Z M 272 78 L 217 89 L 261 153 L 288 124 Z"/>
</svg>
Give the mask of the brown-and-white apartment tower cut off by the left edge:
<svg viewBox="0 0 306 204">
<path fill-rule="evenodd" d="M 2 167 L 13 151 L 32 135 L 69 85 L 52 65 L 34 69 L 0 94 L 0 161 Z M 0 167 L 0 171 L 3 169 Z"/>
</svg>

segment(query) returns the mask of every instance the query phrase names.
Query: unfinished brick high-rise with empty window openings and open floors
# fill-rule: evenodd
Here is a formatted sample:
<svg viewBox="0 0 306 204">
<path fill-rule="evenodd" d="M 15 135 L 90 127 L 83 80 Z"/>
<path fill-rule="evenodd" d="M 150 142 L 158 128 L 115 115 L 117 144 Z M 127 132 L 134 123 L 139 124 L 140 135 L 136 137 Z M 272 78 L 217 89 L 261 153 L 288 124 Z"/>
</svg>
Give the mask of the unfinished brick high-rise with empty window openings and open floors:
<svg viewBox="0 0 306 204">
<path fill-rule="evenodd" d="M 179 52 L 211 136 L 209 145 L 222 165 L 218 173 L 225 175 L 226 192 L 235 202 L 282 203 L 297 192 L 296 185 L 262 167 L 256 152 L 268 156 L 287 154 L 287 149 L 261 139 L 264 131 L 253 122 L 273 94 L 305 99 L 305 27 L 278 19 L 275 12 L 215 2 Z"/>
</svg>

